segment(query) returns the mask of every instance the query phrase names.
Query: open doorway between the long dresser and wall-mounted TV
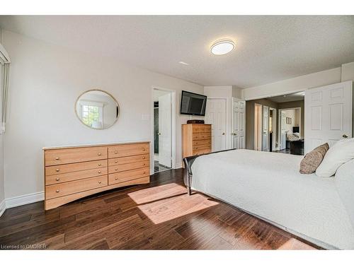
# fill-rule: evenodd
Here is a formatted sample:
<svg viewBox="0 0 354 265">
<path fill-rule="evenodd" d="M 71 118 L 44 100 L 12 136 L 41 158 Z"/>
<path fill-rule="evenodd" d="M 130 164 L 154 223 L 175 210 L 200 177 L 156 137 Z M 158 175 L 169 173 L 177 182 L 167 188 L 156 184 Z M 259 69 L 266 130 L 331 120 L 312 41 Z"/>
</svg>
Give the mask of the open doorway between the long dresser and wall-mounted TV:
<svg viewBox="0 0 354 265">
<path fill-rule="evenodd" d="M 154 88 L 154 173 L 171 170 L 173 161 L 173 91 Z"/>
</svg>

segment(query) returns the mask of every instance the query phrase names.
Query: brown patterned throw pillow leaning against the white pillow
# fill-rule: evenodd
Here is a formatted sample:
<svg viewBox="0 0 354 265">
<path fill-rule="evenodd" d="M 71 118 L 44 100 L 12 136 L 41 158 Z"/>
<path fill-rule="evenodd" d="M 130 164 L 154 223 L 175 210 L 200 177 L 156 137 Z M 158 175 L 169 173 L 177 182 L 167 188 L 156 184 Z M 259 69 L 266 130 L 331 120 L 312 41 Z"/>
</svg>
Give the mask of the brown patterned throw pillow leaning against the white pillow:
<svg viewBox="0 0 354 265">
<path fill-rule="evenodd" d="M 307 153 L 300 163 L 301 174 L 312 174 L 316 171 L 317 167 L 321 165 L 322 160 L 326 152 L 329 150 L 329 144 L 324 143 L 321 146 L 317 146 L 311 152 Z"/>
</svg>

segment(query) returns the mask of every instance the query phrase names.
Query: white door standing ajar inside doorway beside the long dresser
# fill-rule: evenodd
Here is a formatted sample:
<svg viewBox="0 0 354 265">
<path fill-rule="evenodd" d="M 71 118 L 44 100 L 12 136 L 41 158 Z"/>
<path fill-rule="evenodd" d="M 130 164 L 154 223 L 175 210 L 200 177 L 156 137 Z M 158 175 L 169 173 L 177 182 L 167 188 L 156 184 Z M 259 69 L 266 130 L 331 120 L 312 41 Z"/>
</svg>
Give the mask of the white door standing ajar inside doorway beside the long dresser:
<svg viewBox="0 0 354 265">
<path fill-rule="evenodd" d="M 159 97 L 159 164 L 172 164 L 172 102 L 171 93 Z"/>
</svg>

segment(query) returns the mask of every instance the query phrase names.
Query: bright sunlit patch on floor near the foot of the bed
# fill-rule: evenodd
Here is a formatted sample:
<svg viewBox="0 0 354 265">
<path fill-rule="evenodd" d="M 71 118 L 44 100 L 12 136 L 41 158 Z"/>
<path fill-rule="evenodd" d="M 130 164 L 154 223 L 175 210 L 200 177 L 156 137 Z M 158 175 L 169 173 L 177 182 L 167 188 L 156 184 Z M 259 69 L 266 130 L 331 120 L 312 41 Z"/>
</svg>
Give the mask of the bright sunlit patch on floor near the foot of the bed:
<svg viewBox="0 0 354 265">
<path fill-rule="evenodd" d="M 202 194 L 188 196 L 185 187 L 176 183 L 142 189 L 128 194 L 153 223 L 164 223 L 217 205 Z"/>
</svg>

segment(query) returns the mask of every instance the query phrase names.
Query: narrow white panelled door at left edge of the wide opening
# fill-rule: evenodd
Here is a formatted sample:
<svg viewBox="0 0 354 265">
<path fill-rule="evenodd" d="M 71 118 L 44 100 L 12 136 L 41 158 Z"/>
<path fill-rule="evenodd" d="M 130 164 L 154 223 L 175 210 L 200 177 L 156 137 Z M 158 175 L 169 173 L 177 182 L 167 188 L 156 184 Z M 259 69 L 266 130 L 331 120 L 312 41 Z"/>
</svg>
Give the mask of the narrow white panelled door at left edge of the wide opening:
<svg viewBox="0 0 354 265">
<path fill-rule="evenodd" d="M 245 148 L 246 102 L 232 99 L 232 148 Z"/>
</svg>

